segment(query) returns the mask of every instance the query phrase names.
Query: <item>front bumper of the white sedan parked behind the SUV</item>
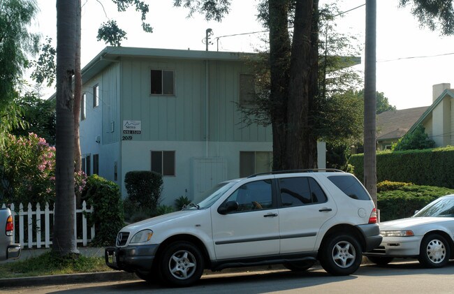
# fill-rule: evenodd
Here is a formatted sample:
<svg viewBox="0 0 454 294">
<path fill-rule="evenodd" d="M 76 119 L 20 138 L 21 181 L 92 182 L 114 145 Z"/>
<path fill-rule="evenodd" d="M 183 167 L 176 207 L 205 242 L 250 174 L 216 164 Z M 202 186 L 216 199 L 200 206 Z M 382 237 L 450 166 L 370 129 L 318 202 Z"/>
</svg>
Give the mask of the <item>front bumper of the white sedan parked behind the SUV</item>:
<svg viewBox="0 0 454 294">
<path fill-rule="evenodd" d="M 419 255 L 421 236 L 383 237 L 380 246 L 364 253 L 365 256 L 416 257 Z"/>
</svg>

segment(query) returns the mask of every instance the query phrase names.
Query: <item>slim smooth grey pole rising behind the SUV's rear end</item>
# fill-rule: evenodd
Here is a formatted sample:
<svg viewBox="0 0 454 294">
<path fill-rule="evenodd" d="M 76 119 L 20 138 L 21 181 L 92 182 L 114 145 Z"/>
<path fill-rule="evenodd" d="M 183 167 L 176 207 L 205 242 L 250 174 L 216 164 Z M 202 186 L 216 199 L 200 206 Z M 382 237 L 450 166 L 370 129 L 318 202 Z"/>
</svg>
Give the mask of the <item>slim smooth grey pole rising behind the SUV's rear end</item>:
<svg viewBox="0 0 454 294">
<path fill-rule="evenodd" d="M 376 0 L 366 0 L 364 185 L 376 203 Z M 377 213 L 378 214 L 378 213 Z"/>
</svg>

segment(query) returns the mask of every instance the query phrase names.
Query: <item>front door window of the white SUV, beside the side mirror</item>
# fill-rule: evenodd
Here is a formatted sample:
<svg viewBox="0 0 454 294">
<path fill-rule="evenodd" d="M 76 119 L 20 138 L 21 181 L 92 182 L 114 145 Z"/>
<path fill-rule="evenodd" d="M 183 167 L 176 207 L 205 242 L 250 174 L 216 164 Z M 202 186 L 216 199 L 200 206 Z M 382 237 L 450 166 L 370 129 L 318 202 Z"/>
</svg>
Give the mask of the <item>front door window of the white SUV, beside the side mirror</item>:
<svg viewBox="0 0 454 294">
<path fill-rule="evenodd" d="M 271 179 L 249 182 L 240 186 L 225 202 L 236 201 L 237 212 L 265 210 L 272 207 Z"/>
</svg>

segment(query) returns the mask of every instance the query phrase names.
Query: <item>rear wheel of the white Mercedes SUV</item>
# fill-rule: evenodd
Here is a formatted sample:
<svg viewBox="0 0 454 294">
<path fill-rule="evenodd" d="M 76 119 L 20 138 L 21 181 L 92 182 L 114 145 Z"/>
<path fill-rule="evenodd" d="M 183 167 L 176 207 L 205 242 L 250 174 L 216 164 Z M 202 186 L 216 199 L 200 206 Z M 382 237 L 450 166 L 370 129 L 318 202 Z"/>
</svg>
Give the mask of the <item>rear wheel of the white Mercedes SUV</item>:
<svg viewBox="0 0 454 294">
<path fill-rule="evenodd" d="M 334 276 L 353 274 L 361 265 L 363 253 L 360 244 L 351 235 L 330 235 L 323 242 L 320 263 Z"/>
</svg>

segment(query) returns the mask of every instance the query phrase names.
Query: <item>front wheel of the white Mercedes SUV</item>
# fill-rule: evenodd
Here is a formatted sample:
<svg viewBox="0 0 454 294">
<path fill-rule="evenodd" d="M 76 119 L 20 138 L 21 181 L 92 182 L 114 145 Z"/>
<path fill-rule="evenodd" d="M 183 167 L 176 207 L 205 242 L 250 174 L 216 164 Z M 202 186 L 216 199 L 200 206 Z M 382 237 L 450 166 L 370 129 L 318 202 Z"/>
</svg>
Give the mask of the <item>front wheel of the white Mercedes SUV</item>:
<svg viewBox="0 0 454 294">
<path fill-rule="evenodd" d="M 163 251 L 159 269 L 166 284 L 179 287 L 190 286 L 203 274 L 203 255 L 192 243 L 175 242 Z"/>
</svg>

